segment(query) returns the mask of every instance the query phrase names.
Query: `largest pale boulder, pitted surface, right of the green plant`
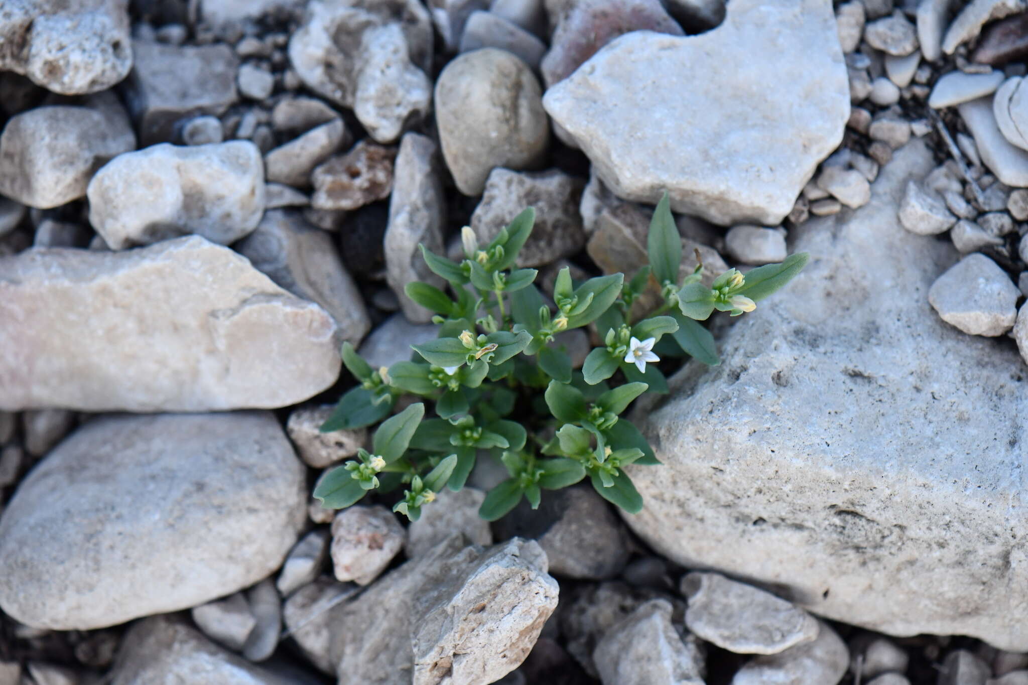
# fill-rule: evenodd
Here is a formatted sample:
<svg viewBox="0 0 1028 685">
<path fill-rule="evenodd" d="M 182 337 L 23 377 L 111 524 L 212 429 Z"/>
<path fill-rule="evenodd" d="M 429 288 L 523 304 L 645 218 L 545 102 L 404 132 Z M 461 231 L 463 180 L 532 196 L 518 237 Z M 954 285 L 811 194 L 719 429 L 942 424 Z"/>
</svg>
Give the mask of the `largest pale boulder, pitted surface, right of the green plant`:
<svg viewBox="0 0 1028 685">
<path fill-rule="evenodd" d="M 931 166 L 911 143 L 868 205 L 794 230 L 806 270 L 642 417 L 666 465 L 631 470 L 646 508 L 626 519 L 822 616 L 1024 651 L 1025 369 L 928 304 L 958 255 L 896 211 Z"/>
</svg>

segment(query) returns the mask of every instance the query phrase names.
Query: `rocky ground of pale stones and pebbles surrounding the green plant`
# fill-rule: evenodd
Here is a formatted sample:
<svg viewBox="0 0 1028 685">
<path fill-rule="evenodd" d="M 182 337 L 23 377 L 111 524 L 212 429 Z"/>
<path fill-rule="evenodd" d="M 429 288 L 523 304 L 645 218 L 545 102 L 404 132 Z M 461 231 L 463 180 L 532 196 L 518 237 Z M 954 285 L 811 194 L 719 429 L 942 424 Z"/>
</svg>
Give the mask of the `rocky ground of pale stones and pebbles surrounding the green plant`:
<svg viewBox="0 0 1028 685">
<path fill-rule="evenodd" d="M 1023 0 L 0 2 L 0 685 L 1028 683 L 1026 56 Z M 708 275 L 812 257 L 636 410 L 640 513 L 311 499 L 418 243 L 632 273 L 665 190 Z"/>
</svg>

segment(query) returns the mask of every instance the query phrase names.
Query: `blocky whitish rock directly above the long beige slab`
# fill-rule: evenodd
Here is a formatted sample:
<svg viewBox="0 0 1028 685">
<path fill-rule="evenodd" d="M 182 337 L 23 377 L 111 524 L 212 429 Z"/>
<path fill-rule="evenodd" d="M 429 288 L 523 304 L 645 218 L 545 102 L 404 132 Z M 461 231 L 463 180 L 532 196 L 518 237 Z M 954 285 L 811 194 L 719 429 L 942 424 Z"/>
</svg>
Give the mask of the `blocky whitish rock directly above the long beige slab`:
<svg viewBox="0 0 1028 685">
<path fill-rule="evenodd" d="M 86 196 L 89 224 L 111 250 L 190 233 L 228 244 L 264 214 L 264 165 L 249 141 L 164 143 L 112 159 Z"/>
</svg>

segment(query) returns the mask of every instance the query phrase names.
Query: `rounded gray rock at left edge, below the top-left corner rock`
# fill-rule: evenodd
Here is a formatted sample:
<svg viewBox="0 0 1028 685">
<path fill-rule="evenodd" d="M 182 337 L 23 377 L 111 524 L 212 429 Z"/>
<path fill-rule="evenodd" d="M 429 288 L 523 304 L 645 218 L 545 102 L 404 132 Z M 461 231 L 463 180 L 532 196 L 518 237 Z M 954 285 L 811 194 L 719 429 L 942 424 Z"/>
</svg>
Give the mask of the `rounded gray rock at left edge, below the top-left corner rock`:
<svg viewBox="0 0 1028 685">
<path fill-rule="evenodd" d="M 85 196 L 98 168 L 135 149 L 132 124 L 110 93 L 84 106 L 37 107 L 11 117 L 0 135 L 0 193 L 40 210 L 67 204 Z"/>
</svg>

